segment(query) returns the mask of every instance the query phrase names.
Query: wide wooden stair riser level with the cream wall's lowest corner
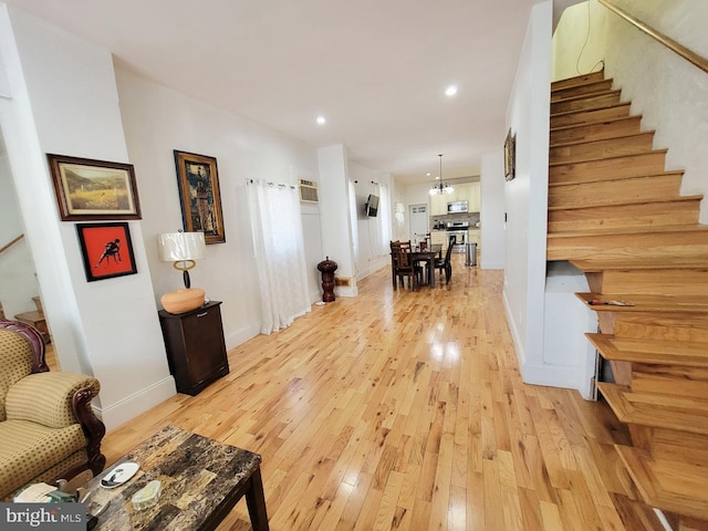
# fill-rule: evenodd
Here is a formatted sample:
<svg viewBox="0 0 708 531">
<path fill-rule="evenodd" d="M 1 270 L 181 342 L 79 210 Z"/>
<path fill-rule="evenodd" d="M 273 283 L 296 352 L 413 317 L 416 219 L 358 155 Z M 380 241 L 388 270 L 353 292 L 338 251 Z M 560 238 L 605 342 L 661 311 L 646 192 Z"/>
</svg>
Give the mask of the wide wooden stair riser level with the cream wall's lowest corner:
<svg viewBox="0 0 708 531">
<path fill-rule="evenodd" d="M 698 222 L 700 200 L 595 206 L 549 211 L 549 233 L 622 227 L 665 227 Z"/>
</svg>

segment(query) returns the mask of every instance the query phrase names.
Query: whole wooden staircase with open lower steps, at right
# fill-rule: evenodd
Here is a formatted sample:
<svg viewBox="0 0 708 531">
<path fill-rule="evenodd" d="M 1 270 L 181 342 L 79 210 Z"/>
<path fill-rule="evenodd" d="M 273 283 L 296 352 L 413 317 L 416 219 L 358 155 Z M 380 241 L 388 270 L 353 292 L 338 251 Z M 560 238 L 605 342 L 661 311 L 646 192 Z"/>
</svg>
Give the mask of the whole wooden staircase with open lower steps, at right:
<svg viewBox="0 0 708 531">
<path fill-rule="evenodd" d="M 603 73 L 551 87 L 548 260 L 582 270 L 612 368 L 603 398 L 632 434 L 616 446 L 638 498 L 674 529 L 708 529 L 708 227 L 702 196 L 641 129 Z"/>
</svg>

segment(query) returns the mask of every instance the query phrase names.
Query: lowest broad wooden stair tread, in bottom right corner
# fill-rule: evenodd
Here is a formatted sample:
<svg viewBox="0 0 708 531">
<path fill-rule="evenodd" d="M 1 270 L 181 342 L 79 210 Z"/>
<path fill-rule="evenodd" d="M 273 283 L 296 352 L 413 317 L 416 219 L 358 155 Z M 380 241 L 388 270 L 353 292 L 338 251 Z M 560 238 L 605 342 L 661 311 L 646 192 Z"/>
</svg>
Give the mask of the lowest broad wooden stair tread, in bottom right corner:
<svg viewBox="0 0 708 531">
<path fill-rule="evenodd" d="M 654 459 L 646 450 L 615 445 L 645 503 L 658 509 L 708 519 L 708 467 Z"/>
</svg>

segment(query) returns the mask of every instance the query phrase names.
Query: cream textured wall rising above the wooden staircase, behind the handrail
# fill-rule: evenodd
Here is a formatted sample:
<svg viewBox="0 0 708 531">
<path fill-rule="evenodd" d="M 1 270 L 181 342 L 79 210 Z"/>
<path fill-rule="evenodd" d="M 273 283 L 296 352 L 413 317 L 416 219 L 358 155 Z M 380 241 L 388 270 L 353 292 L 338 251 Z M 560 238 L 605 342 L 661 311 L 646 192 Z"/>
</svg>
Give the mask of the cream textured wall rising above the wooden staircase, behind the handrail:
<svg viewBox="0 0 708 531">
<path fill-rule="evenodd" d="M 616 0 L 617 6 L 667 37 L 708 58 L 705 0 Z M 566 10 L 559 23 L 553 75 L 563 79 L 605 61 L 605 76 L 642 114 L 643 129 L 656 129 L 655 148 L 668 148 L 667 169 L 685 169 L 681 194 L 708 196 L 708 74 L 634 29 L 595 0 Z M 701 204 L 700 222 L 708 222 Z"/>
</svg>

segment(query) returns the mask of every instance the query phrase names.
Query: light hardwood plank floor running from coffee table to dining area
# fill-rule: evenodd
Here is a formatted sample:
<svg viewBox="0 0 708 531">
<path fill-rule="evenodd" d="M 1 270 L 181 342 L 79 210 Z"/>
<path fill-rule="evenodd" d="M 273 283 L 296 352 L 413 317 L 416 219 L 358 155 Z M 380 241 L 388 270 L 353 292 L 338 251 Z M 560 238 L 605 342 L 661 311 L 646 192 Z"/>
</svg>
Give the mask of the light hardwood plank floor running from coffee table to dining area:
<svg viewBox="0 0 708 531">
<path fill-rule="evenodd" d="M 394 291 L 383 269 L 231 373 L 104 439 L 108 464 L 166 424 L 262 455 L 270 525 L 290 530 L 655 530 L 613 448 L 604 403 L 525 385 L 501 271 Z M 136 367 L 139 371 L 139 367 Z M 246 503 L 220 530 L 250 529 Z"/>
</svg>

